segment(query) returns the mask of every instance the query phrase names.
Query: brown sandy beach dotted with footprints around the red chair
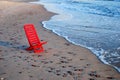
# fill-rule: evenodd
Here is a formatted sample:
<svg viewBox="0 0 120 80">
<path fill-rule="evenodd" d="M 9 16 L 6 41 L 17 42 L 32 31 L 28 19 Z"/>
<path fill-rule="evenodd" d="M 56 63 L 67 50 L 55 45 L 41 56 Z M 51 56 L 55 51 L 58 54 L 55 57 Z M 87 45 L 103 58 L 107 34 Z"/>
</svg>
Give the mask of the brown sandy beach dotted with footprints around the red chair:
<svg viewBox="0 0 120 80">
<path fill-rule="evenodd" d="M 42 21 L 55 14 L 28 1 L 33 0 L 0 1 L 0 80 L 120 80 L 120 73 L 90 50 L 43 28 Z M 25 50 L 26 23 L 34 24 L 39 38 L 48 41 L 44 52 Z"/>
</svg>

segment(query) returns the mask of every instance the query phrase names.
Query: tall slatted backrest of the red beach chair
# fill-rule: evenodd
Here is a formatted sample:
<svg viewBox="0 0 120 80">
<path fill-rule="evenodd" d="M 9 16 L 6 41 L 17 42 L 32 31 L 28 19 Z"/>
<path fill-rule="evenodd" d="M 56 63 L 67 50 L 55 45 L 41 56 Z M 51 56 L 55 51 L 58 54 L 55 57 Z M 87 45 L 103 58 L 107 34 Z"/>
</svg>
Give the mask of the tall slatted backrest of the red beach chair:
<svg viewBox="0 0 120 80">
<path fill-rule="evenodd" d="M 39 37 L 33 24 L 25 24 L 24 30 L 30 46 L 34 46 L 40 43 Z"/>
</svg>

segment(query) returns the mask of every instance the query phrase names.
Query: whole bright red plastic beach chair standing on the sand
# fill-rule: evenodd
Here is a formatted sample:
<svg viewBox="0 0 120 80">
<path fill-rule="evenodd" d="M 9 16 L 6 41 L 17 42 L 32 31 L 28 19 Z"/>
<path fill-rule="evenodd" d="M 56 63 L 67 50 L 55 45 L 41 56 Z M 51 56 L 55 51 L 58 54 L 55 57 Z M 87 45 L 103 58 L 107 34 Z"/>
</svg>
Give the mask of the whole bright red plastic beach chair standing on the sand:
<svg viewBox="0 0 120 80">
<path fill-rule="evenodd" d="M 40 53 L 44 51 L 43 44 L 47 42 L 40 42 L 37 32 L 33 24 L 25 24 L 24 30 L 26 33 L 26 37 L 28 39 L 30 47 L 26 50 L 34 50 L 35 53 Z"/>
</svg>

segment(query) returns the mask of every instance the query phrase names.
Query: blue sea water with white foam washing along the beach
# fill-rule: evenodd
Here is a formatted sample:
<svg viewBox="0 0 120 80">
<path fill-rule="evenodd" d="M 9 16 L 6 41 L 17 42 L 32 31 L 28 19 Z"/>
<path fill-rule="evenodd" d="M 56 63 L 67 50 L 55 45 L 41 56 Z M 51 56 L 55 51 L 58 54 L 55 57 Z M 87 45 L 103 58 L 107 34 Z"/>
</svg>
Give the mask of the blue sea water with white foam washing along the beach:
<svg viewBox="0 0 120 80">
<path fill-rule="evenodd" d="M 90 49 L 120 72 L 120 0 L 40 0 L 58 13 L 44 27 Z"/>
</svg>

